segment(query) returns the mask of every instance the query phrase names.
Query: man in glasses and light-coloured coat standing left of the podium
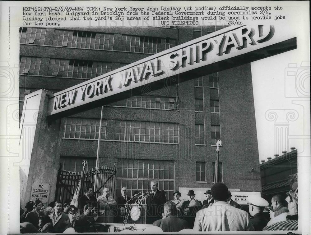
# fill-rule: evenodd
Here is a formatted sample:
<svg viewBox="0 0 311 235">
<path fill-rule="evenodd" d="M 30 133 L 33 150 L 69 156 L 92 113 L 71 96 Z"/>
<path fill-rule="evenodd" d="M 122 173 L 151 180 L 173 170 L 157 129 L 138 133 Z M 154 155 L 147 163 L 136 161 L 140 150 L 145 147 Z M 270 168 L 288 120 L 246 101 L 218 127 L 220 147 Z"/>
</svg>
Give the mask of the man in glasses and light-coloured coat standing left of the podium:
<svg viewBox="0 0 311 235">
<path fill-rule="evenodd" d="M 113 223 L 117 202 L 109 196 L 109 188 L 104 188 L 103 194 L 97 197 L 98 220 L 96 222 Z"/>
</svg>

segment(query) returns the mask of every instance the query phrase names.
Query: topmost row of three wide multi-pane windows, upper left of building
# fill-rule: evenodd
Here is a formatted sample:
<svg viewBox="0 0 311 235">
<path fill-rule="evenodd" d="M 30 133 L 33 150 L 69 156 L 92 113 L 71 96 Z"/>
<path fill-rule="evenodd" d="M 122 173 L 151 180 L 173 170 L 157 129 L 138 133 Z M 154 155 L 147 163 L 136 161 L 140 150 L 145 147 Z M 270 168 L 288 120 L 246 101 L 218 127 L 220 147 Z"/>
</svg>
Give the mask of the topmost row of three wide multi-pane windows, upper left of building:
<svg viewBox="0 0 311 235">
<path fill-rule="evenodd" d="M 20 28 L 20 43 L 44 45 L 46 29 Z M 53 46 L 113 50 L 113 33 L 55 29 Z M 155 54 L 177 45 L 176 39 L 122 35 L 121 50 Z"/>
</svg>

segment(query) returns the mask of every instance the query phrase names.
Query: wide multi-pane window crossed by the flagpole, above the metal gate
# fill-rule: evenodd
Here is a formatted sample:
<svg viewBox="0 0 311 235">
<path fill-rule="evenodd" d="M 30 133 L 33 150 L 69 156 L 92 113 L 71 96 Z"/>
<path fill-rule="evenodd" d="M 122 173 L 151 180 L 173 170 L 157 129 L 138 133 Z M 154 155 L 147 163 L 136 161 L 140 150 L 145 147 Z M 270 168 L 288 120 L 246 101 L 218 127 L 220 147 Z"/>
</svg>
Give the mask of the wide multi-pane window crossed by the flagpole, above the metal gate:
<svg viewBox="0 0 311 235">
<path fill-rule="evenodd" d="M 103 120 L 101 140 L 106 136 L 106 120 Z M 67 117 L 65 122 L 64 138 L 97 140 L 100 119 Z"/>
</svg>

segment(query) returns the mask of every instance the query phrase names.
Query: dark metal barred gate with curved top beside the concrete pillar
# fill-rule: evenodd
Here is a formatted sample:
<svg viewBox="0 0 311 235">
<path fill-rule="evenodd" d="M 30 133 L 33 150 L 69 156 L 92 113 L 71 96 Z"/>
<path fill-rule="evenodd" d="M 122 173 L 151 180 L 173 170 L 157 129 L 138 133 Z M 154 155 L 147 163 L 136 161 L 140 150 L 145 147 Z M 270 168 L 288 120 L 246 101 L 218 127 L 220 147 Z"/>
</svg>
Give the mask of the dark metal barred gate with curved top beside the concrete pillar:
<svg viewBox="0 0 311 235">
<path fill-rule="evenodd" d="M 97 198 L 101 195 L 102 189 L 104 187 L 109 188 L 112 193 L 111 196 L 114 197 L 114 188 L 115 188 L 115 175 L 116 175 L 116 166 L 99 166 L 98 169 L 92 168 L 84 173 L 83 179 L 81 180 L 81 191 L 80 196 L 84 195 L 84 189 L 86 187 L 91 187 L 94 189 L 94 181 L 96 177 L 96 191 L 93 195 Z M 79 181 L 81 179 L 81 172 L 72 172 L 62 170 L 62 164 L 60 164 L 57 183 L 56 183 L 56 192 L 55 192 L 55 201 L 65 202 L 66 200 L 72 200 L 73 194 L 77 189 Z"/>
</svg>

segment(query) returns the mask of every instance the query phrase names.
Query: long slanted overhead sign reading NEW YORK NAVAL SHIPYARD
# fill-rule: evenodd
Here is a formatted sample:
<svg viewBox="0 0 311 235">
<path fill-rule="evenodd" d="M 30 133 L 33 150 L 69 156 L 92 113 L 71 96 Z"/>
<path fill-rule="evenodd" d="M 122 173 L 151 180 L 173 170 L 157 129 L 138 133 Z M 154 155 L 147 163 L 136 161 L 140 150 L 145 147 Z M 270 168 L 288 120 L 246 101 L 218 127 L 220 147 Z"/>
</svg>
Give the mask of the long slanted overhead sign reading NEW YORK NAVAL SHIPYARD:
<svg viewBox="0 0 311 235">
<path fill-rule="evenodd" d="M 63 117 L 151 91 L 165 79 L 171 85 L 295 48 L 295 32 L 282 26 L 228 27 L 55 93 L 48 115 Z"/>
</svg>

